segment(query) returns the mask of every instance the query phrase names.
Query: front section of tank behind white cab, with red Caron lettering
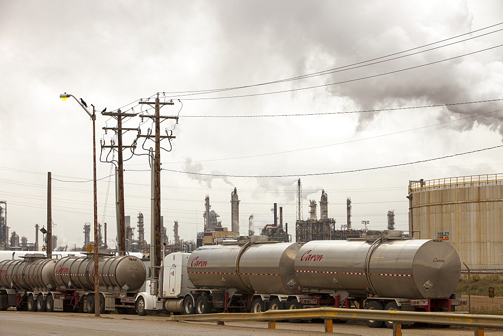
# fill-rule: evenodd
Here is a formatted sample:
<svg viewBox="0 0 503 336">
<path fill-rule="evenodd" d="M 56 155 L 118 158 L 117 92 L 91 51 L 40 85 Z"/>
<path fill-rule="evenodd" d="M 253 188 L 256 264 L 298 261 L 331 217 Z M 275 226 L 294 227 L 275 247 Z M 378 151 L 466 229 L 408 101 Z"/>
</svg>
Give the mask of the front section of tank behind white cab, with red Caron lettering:
<svg viewBox="0 0 503 336">
<path fill-rule="evenodd" d="M 234 287 L 248 292 L 237 275 L 236 263 L 241 245 L 206 245 L 194 250 L 187 262 L 187 273 L 194 286 L 203 288 Z"/>
</svg>

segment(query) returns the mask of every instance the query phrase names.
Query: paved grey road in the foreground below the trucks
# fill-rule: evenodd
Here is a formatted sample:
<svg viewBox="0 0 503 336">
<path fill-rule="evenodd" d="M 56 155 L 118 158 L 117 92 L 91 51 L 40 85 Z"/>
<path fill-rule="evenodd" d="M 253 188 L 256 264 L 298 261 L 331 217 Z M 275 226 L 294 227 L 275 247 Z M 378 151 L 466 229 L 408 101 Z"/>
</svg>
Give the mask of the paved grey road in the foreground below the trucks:
<svg viewBox="0 0 503 336">
<path fill-rule="evenodd" d="M 0 312 L 1 335 L 255 335 L 255 334 L 322 334 L 323 323 L 277 323 L 276 329 L 268 329 L 267 322 L 176 322 L 166 316 L 107 314 L 95 317 L 79 313 L 39 313 L 27 311 Z M 371 329 L 363 322 L 349 321 L 333 325 L 334 335 L 391 335 L 387 328 Z M 472 328 L 450 327 L 447 329 L 405 328 L 404 335 L 473 335 Z M 486 335 L 503 335 L 503 330 L 486 330 Z"/>
</svg>

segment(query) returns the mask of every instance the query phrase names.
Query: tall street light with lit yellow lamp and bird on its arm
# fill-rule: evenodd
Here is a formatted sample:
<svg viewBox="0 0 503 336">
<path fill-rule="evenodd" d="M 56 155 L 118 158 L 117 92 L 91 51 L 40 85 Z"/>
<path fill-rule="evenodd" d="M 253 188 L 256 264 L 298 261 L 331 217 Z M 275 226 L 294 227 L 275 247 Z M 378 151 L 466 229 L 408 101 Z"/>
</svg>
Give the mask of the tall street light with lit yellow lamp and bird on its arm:
<svg viewBox="0 0 503 336">
<path fill-rule="evenodd" d="M 62 101 L 65 101 L 67 98 L 73 97 L 75 101 L 86 111 L 86 113 L 91 117 L 91 120 L 93 120 L 93 185 L 94 185 L 94 231 L 95 231 L 95 244 L 94 244 L 94 261 L 95 261 L 95 274 L 94 274 L 94 280 L 95 280 L 95 316 L 100 316 L 100 273 L 99 273 L 99 267 L 98 267 L 98 197 L 97 197 L 97 191 L 96 191 L 96 110 L 94 105 L 93 106 L 93 113 L 89 112 L 87 108 L 86 102 L 84 102 L 82 99 L 78 101 L 75 96 L 69 95 L 66 92 L 64 94 L 59 95 L 59 98 L 61 98 Z"/>
</svg>

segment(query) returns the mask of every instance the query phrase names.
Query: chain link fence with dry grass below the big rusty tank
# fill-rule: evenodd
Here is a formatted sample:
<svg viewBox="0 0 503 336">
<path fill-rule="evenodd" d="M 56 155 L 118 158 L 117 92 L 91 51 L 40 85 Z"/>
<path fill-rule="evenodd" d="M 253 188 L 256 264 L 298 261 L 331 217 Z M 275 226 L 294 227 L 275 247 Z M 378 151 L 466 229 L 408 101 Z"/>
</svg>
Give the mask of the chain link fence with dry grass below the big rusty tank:
<svg viewBox="0 0 503 336">
<path fill-rule="evenodd" d="M 455 293 L 461 293 L 467 305 L 456 311 L 503 315 L 503 268 L 463 268 Z"/>
</svg>

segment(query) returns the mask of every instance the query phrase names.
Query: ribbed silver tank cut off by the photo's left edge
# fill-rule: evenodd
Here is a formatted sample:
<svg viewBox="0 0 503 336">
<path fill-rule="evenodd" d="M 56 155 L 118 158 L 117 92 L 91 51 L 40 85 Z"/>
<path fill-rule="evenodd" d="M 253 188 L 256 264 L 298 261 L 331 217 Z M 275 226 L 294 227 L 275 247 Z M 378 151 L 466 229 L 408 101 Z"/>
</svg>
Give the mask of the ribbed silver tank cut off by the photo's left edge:
<svg viewBox="0 0 503 336">
<path fill-rule="evenodd" d="M 26 255 L 24 260 L 0 261 L 0 286 L 18 290 L 50 290 L 56 287 L 53 272 L 57 260 Z"/>
</svg>

